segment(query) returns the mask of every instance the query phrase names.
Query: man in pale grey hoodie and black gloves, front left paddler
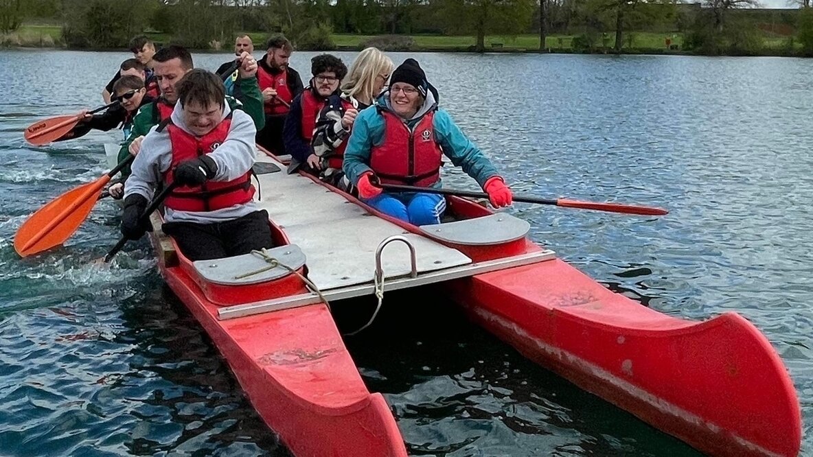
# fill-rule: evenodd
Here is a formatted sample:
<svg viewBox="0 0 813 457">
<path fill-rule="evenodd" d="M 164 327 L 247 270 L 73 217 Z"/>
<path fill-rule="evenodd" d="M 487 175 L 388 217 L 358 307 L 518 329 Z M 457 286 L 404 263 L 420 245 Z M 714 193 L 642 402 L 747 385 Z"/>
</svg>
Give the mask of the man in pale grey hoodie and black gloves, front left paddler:
<svg viewBox="0 0 813 457">
<path fill-rule="evenodd" d="M 220 259 L 272 247 L 267 211 L 254 204 L 254 121 L 232 111 L 220 78 L 188 72 L 176 85 L 172 116 L 153 127 L 133 161 L 124 195 L 121 233 L 149 227 L 139 218 L 159 185 L 176 185 L 164 200 L 163 232 L 188 259 Z"/>
</svg>

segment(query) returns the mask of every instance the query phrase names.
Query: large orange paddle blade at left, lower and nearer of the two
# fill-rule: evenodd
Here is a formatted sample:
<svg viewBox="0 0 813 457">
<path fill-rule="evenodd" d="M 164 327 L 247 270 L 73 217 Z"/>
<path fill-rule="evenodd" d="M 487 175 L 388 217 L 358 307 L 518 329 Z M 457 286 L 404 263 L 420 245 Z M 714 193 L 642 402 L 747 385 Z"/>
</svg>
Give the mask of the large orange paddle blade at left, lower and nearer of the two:
<svg viewBox="0 0 813 457">
<path fill-rule="evenodd" d="M 108 181 L 110 176 L 102 176 L 67 191 L 37 210 L 15 234 L 14 250 L 17 254 L 21 257 L 37 254 L 67 240 L 85 222 Z"/>
</svg>

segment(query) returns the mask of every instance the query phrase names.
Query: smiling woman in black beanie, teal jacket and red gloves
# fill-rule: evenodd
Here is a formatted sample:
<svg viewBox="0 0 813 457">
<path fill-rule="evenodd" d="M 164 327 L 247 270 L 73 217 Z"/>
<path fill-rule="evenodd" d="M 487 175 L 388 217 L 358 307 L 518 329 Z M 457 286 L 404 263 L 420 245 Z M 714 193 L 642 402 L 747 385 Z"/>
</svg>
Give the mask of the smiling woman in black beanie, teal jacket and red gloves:
<svg viewBox="0 0 813 457">
<path fill-rule="evenodd" d="M 355 119 L 344 172 L 359 197 L 376 210 L 415 225 L 438 224 L 446 210 L 443 196 L 386 192 L 373 182 L 441 187 L 441 155 L 472 176 L 493 207 L 511 205 L 513 194 L 502 176 L 449 113 L 437 108 L 437 90 L 415 59 L 406 59 L 375 106 Z"/>
</svg>

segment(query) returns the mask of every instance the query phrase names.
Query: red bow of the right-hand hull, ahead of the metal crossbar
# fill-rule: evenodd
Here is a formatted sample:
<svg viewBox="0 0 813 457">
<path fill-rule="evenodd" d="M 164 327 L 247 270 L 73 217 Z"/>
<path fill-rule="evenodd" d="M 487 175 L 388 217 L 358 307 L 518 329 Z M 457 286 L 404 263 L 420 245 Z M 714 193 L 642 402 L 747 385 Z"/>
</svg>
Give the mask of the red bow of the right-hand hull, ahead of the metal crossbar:
<svg viewBox="0 0 813 457">
<path fill-rule="evenodd" d="M 798 455 L 802 418 L 770 342 L 726 313 L 695 322 L 615 294 L 556 259 L 454 282 L 477 323 L 710 455 Z"/>
</svg>

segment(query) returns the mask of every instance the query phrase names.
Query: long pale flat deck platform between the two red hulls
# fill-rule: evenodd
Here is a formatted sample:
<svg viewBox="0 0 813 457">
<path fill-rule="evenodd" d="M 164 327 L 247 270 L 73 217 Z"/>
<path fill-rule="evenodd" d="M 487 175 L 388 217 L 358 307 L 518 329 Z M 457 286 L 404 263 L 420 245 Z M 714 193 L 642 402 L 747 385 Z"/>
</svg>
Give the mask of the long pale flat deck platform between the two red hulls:
<svg viewBox="0 0 813 457">
<path fill-rule="evenodd" d="M 290 242 L 302 248 L 308 277 L 321 290 L 371 283 L 379 243 L 404 234 L 398 225 L 368 215 L 307 177 L 273 173 L 259 176 L 259 181 L 263 186 L 259 207 L 284 228 Z M 419 273 L 472 263 L 459 250 L 419 235 L 405 236 L 415 246 Z M 386 278 L 408 274 L 409 249 L 402 243 L 387 246 L 382 268 Z"/>
</svg>

